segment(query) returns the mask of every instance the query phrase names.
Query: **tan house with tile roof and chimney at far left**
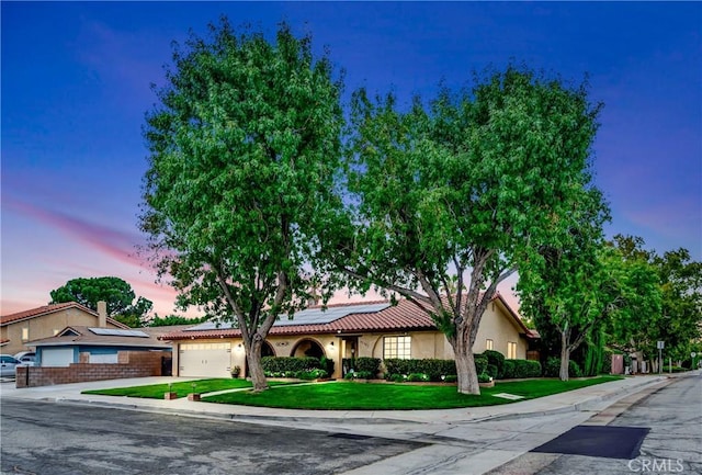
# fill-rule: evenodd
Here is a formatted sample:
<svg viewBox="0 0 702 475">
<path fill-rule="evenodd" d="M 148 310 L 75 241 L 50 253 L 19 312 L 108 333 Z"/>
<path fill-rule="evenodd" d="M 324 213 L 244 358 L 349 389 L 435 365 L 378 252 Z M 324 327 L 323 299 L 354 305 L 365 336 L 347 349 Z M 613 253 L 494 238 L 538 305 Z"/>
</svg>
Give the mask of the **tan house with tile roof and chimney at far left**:
<svg viewBox="0 0 702 475">
<path fill-rule="evenodd" d="M 14 354 L 27 350 L 31 340 L 53 337 L 71 325 L 128 328 L 107 317 L 105 309 L 99 314 L 76 302 L 45 305 L 0 317 L 2 352 Z"/>
</svg>

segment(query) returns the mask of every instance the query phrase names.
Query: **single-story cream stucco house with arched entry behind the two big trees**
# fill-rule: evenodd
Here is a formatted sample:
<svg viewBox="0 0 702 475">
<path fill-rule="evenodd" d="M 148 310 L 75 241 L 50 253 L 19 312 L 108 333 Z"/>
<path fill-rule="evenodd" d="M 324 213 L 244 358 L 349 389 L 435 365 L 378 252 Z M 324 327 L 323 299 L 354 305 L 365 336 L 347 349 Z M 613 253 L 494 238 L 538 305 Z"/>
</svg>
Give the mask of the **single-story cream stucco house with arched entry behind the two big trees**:
<svg viewBox="0 0 702 475">
<path fill-rule="evenodd" d="M 240 330 L 231 324 L 204 323 L 163 335 L 173 342 L 173 375 L 226 377 L 239 366 L 246 376 Z M 539 333 L 529 330 L 503 297 L 488 305 L 473 350 L 497 350 L 510 359 L 525 359 Z M 453 349 L 431 317 L 401 299 L 310 307 L 281 317 L 269 332 L 262 355 L 326 357 L 335 361 L 333 377 L 342 377 L 344 360 L 373 358 L 452 359 Z"/>
</svg>

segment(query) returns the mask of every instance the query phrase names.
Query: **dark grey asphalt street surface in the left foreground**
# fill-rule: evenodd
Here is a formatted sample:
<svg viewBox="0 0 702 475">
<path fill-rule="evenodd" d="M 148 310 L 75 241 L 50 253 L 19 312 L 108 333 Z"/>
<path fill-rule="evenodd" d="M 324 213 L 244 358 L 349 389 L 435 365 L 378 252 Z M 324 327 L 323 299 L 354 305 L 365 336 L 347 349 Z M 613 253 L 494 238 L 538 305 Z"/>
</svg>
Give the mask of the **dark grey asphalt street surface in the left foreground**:
<svg viewBox="0 0 702 475">
<path fill-rule="evenodd" d="M 0 420 L 3 475 L 327 475 L 423 445 L 32 400 L 3 400 Z"/>
</svg>

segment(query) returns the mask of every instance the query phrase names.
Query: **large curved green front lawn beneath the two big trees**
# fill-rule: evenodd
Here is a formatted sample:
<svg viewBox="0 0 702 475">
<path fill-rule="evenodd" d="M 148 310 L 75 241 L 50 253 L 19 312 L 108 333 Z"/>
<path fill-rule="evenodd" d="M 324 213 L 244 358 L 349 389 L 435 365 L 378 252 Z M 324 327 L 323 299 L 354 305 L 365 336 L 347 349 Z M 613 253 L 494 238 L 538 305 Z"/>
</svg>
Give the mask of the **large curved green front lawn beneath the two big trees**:
<svg viewBox="0 0 702 475">
<path fill-rule="evenodd" d="M 206 403 L 280 407 L 287 409 L 450 409 L 512 403 L 510 399 L 494 396 L 494 394 L 497 393 L 509 393 L 523 396 L 524 399 L 533 399 L 620 378 L 620 376 L 600 376 L 588 380 L 571 380 L 565 383 L 559 380 L 498 382 L 495 387 L 482 388 L 479 396 L 458 394 L 455 386 L 363 384 L 339 381 L 302 386 L 275 387 L 258 394 L 242 391 L 211 396 L 202 400 Z"/>
</svg>

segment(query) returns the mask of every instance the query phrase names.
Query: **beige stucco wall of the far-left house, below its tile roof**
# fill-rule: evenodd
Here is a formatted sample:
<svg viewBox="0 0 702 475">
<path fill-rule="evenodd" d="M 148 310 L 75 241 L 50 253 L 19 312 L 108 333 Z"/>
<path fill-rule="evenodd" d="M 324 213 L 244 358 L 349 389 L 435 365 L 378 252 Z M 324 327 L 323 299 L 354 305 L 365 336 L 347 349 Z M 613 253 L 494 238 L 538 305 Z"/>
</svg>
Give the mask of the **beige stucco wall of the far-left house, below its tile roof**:
<svg viewBox="0 0 702 475">
<path fill-rule="evenodd" d="M 20 351 L 33 349 L 24 343 L 31 340 L 39 340 L 56 335 L 64 328 L 76 326 L 98 326 L 98 317 L 80 308 L 64 308 L 50 314 L 42 315 L 34 318 L 27 318 L 21 321 L 13 321 L 3 327 L 1 339 L 9 339 L 10 342 L 2 347 L 5 354 L 14 354 Z M 22 329 L 27 329 L 27 339 L 22 338 Z M 118 328 L 107 323 L 107 328 Z"/>
</svg>

